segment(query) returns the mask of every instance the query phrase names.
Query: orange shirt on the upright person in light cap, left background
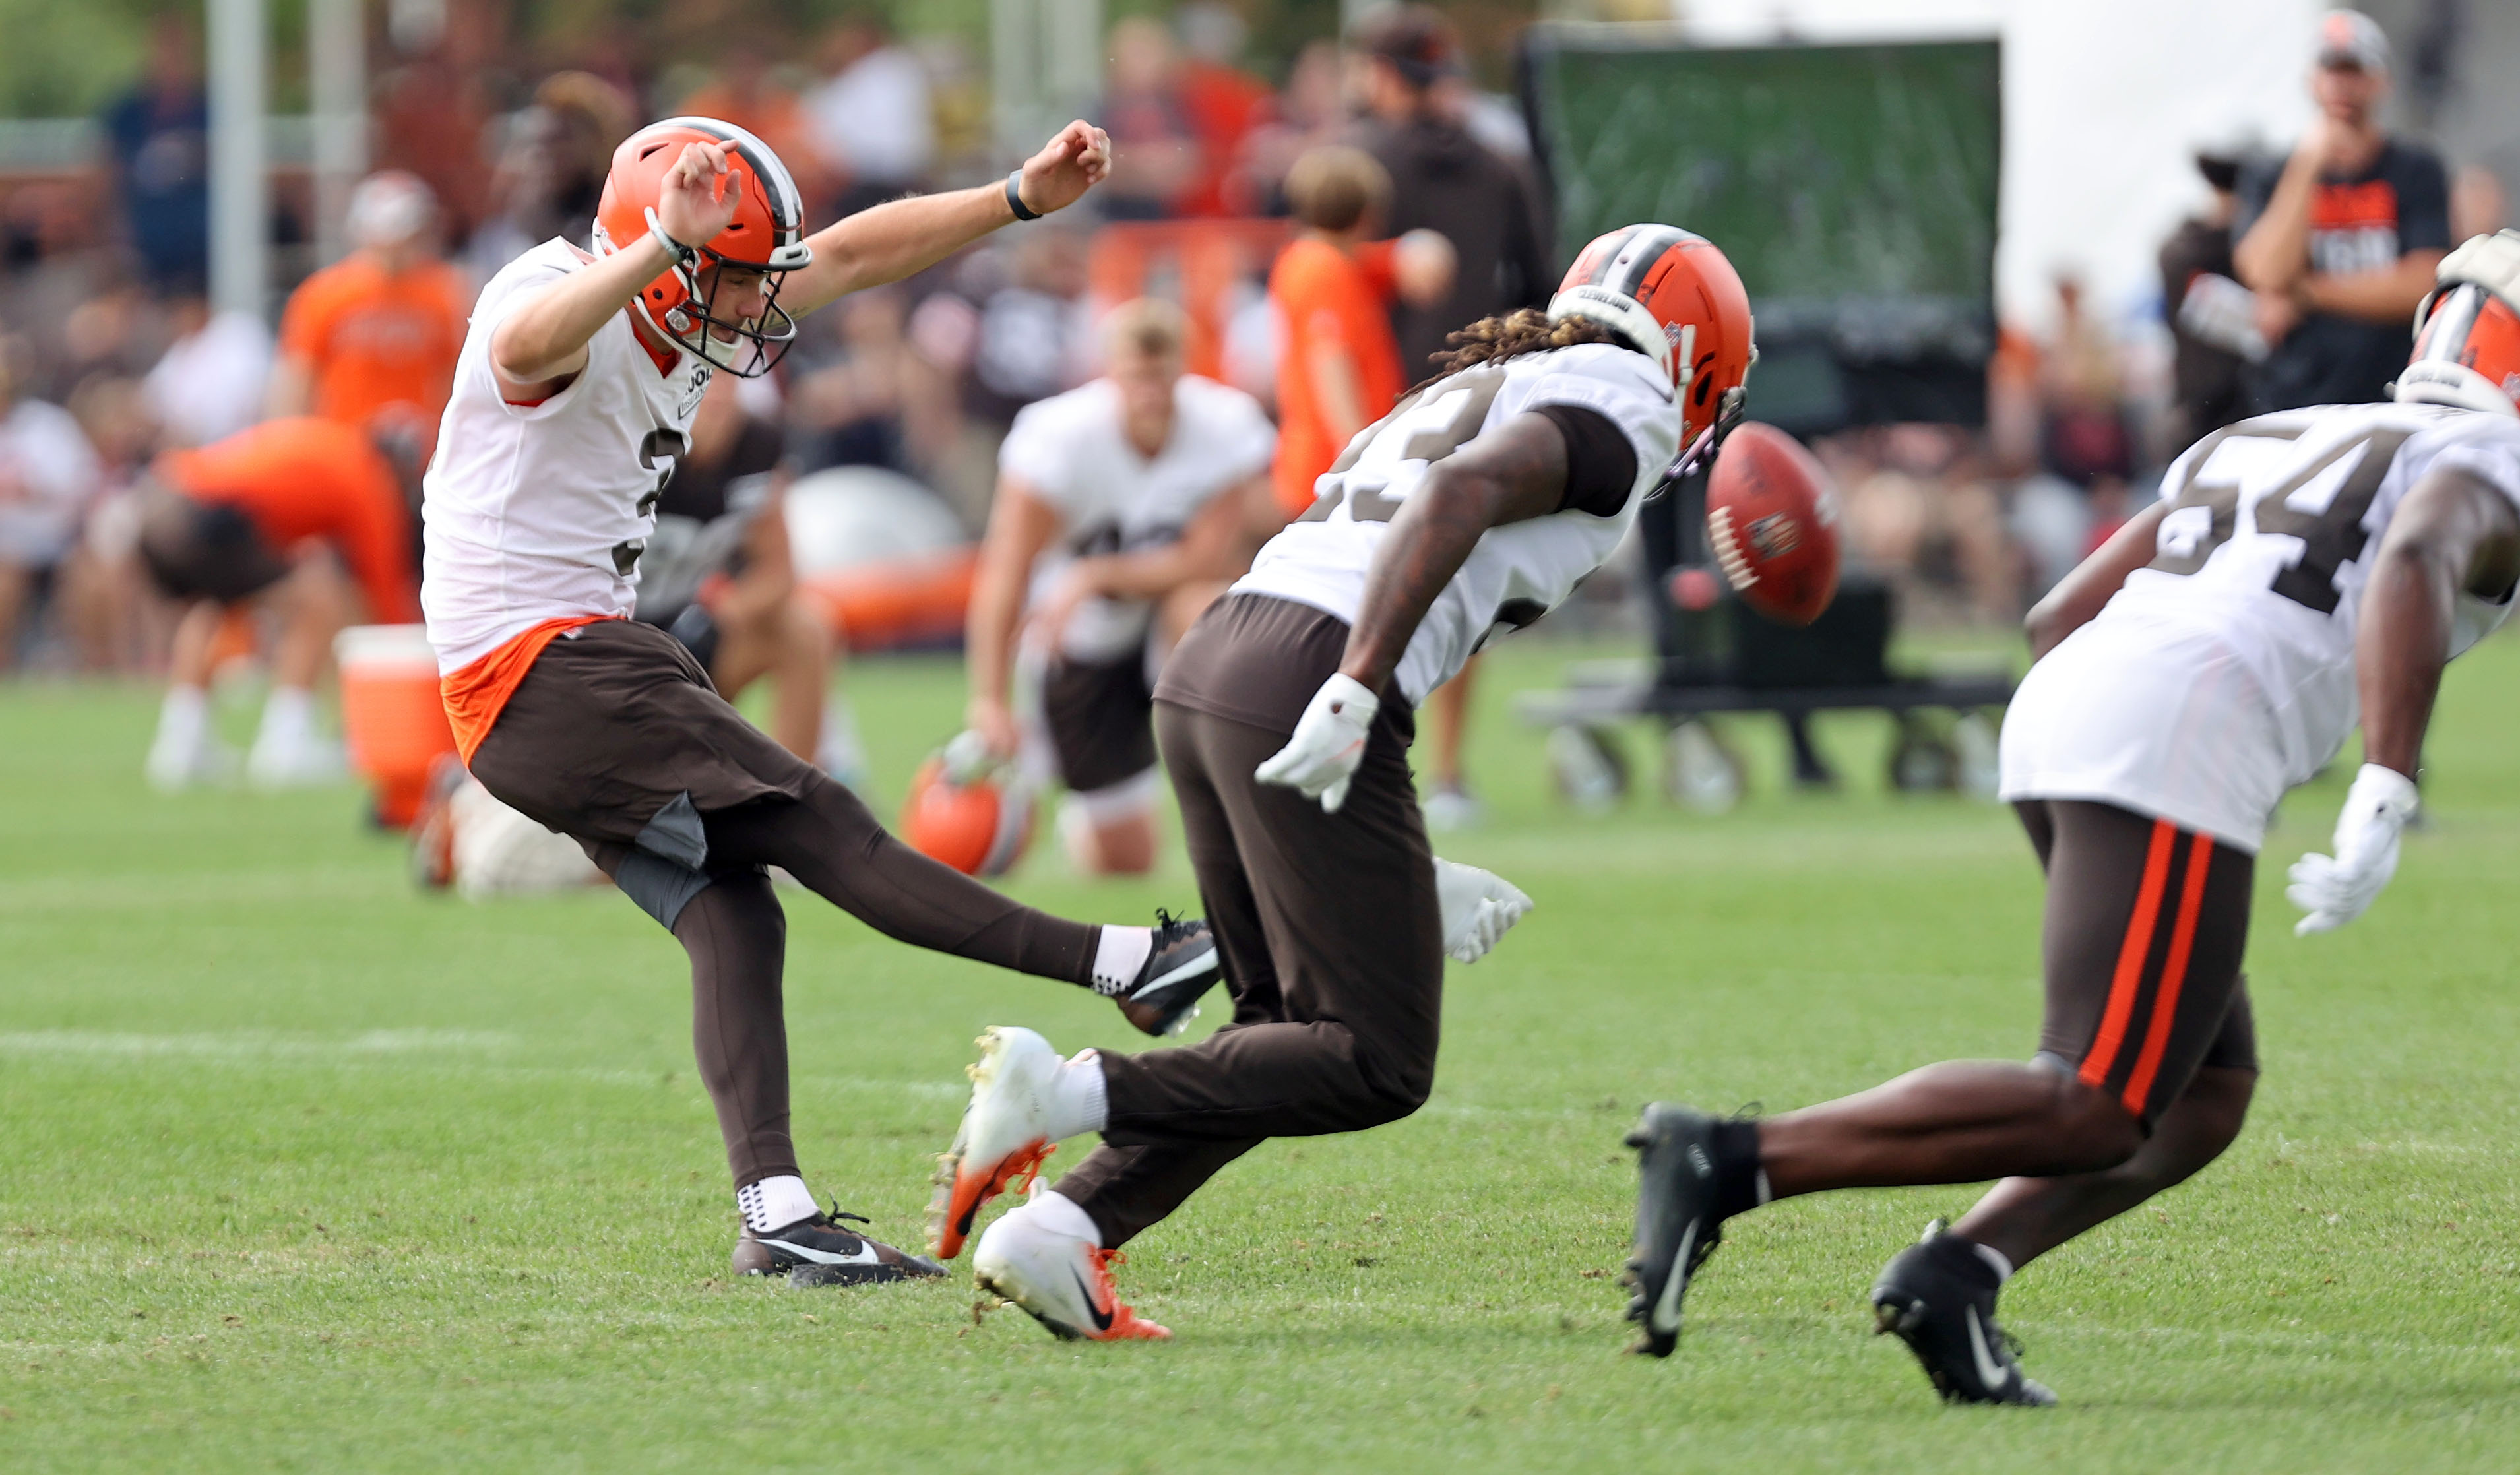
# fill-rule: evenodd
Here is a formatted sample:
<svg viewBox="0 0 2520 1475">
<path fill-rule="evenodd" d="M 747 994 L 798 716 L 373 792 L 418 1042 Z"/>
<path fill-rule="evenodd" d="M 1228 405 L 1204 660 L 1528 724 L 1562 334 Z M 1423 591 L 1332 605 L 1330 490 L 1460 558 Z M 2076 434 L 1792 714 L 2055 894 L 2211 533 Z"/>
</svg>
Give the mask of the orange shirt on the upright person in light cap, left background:
<svg viewBox="0 0 2520 1475">
<path fill-rule="evenodd" d="M 408 406 L 436 441 L 456 383 L 471 290 L 446 262 L 386 275 L 355 252 L 307 277 L 280 318 L 280 350 L 312 371 L 312 411 L 365 429 Z M 423 446 L 426 449 L 426 446 Z"/>
</svg>

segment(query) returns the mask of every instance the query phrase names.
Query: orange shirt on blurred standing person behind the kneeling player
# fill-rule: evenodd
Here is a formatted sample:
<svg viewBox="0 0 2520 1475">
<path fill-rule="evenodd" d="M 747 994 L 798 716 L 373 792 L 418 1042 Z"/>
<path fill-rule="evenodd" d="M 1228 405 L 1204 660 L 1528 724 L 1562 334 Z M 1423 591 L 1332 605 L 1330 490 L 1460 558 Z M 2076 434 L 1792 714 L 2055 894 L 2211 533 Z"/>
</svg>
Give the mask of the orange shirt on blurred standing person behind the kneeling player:
<svg viewBox="0 0 2520 1475">
<path fill-rule="evenodd" d="M 1313 393 L 1310 356 L 1336 345 L 1356 363 L 1366 424 L 1391 411 L 1401 396 L 1401 345 L 1391 338 L 1391 242 L 1358 247 L 1351 257 L 1326 240 L 1303 237 L 1278 255 L 1268 295 L 1285 318 L 1285 353 L 1278 358 L 1278 507 L 1295 517 L 1313 504 L 1313 482 L 1331 469 L 1343 439 L 1331 439 Z"/>
</svg>

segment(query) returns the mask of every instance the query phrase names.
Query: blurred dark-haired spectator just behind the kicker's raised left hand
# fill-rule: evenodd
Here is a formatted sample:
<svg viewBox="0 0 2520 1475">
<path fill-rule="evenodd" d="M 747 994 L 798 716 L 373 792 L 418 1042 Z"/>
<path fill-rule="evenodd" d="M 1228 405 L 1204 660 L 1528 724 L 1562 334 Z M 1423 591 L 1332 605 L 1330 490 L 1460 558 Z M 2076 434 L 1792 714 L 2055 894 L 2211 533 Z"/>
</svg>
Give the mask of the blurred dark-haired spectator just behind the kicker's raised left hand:
<svg viewBox="0 0 2520 1475">
<path fill-rule="evenodd" d="M 630 98 L 600 76 L 559 71 L 542 78 L 532 106 L 509 119 L 491 176 L 496 214 L 464 252 L 474 280 L 486 282 L 554 237 L 592 245 L 612 149 L 630 136 L 633 119 Z"/>
</svg>

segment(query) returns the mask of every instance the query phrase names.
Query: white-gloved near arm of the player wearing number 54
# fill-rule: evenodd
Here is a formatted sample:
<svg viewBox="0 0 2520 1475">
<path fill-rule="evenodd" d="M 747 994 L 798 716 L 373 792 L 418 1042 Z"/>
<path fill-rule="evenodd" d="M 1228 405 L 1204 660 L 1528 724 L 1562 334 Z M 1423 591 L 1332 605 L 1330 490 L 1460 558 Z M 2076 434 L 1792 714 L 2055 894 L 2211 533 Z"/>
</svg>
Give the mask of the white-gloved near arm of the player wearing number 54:
<svg viewBox="0 0 2520 1475">
<path fill-rule="evenodd" d="M 2507 598 L 2520 580 L 2520 509 L 2470 471 L 2437 469 L 2407 492 L 2371 557 L 2354 640 L 2364 766 L 2336 814 L 2334 855 L 2293 862 L 2283 895 L 2306 915 L 2293 933 L 2359 918 L 2397 875 L 2397 840 L 2414 817 L 2414 772 L 2449 663 L 2460 593 Z"/>
</svg>

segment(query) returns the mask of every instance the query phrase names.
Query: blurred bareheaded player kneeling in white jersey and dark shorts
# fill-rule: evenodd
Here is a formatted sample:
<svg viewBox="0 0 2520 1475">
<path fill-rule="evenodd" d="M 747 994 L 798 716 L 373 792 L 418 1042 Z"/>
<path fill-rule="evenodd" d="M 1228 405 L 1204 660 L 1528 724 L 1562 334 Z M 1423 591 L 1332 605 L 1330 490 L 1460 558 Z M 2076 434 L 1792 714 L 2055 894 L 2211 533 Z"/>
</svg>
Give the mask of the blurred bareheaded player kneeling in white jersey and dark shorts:
<svg viewBox="0 0 2520 1475">
<path fill-rule="evenodd" d="M 1154 865 L 1154 681 L 1270 512 L 1278 431 L 1252 396 L 1182 373 L 1184 330 L 1169 303 L 1124 303 L 1104 378 L 1016 416 L 970 598 L 970 729 L 1016 756 L 1028 613 L 1058 830 L 1086 872 Z"/>
</svg>

